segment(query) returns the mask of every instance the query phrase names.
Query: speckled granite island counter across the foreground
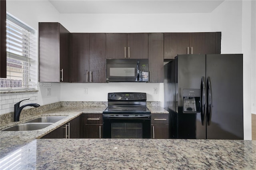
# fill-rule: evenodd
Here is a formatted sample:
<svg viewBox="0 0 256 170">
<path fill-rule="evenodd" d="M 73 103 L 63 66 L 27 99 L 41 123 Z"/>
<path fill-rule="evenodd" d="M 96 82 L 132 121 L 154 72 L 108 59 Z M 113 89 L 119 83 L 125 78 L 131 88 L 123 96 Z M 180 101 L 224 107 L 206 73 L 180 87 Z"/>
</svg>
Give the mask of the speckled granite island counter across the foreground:
<svg viewBox="0 0 256 170">
<path fill-rule="evenodd" d="M 21 169 L 256 168 L 255 140 L 36 139 L 1 166 L 16 152 Z"/>
</svg>

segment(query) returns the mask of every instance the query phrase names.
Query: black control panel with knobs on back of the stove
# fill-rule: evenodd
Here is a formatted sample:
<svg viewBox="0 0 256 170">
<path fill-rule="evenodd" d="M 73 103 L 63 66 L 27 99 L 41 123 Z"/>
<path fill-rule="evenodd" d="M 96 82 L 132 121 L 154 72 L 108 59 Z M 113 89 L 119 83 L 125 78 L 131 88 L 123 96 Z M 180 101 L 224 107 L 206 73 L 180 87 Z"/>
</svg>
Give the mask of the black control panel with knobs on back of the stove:
<svg viewBox="0 0 256 170">
<path fill-rule="evenodd" d="M 146 93 L 108 93 L 108 100 L 146 100 Z"/>
</svg>

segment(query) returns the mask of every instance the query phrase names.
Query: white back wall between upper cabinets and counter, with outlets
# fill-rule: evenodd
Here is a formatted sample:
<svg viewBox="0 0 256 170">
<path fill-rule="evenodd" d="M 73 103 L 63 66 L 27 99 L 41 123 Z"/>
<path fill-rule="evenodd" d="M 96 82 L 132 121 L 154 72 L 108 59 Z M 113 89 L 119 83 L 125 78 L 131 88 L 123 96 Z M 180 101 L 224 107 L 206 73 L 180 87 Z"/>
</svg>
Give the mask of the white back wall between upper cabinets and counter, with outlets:
<svg viewBox="0 0 256 170">
<path fill-rule="evenodd" d="M 72 89 L 70 89 L 72 88 Z M 84 93 L 87 88 L 88 94 Z M 154 94 L 153 88 L 157 88 Z M 147 93 L 147 101 L 163 101 L 163 83 L 61 83 L 61 101 L 108 101 L 108 93 Z"/>
</svg>

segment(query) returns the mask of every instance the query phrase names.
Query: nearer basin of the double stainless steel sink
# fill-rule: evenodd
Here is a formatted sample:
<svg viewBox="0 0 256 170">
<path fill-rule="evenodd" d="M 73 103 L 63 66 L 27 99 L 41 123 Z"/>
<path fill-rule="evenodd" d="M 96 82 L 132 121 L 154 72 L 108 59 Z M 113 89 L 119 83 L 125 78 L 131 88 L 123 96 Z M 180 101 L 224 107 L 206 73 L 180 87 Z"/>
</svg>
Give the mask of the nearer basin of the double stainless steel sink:
<svg viewBox="0 0 256 170">
<path fill-rule="evenodd" d="M 53 123 L 22 123 L 19 125 L 15 125 L 10 128 L 4 129 L 4 131 L 25 131 L 25 130 L 39 130 L 42 128 L 46 128 Z"/>
</svg>

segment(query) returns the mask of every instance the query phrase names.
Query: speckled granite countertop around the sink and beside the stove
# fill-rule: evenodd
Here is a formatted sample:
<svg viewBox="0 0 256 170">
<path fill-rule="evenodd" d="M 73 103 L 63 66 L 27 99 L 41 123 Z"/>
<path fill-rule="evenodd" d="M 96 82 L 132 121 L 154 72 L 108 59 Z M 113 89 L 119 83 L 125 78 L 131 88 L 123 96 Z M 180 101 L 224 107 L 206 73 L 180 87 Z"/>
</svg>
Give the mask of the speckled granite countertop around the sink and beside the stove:
<svg viewBox="0 0 256 170">
<path fill-rule="evenodd" d="M 0 131 L 0 158 L 3 158 L 13 150 L 32 142 L 34 139 L 41 138 L 45 134 L 53 131 L 54 129 L 64 125 L 68 121 L 78 117 L 82 113 L 102 113 L 106 107 L 59 107 L 57 109 L 51 109 L 40 113 L 39 115 L 34 115 L 27 117 L 26 119 L 20 119 L 19 122 L 1 123 L 0 129 L 8 128 L 20 123 L 24 123 L 28 120 L 41 117 L 41 116 L 67 116 L 66 118 L 40 130 L 31 131 Z M 161 107 L 151 106 L 148 109 L 154 113 L 168 113 Z"/>
</svg>

